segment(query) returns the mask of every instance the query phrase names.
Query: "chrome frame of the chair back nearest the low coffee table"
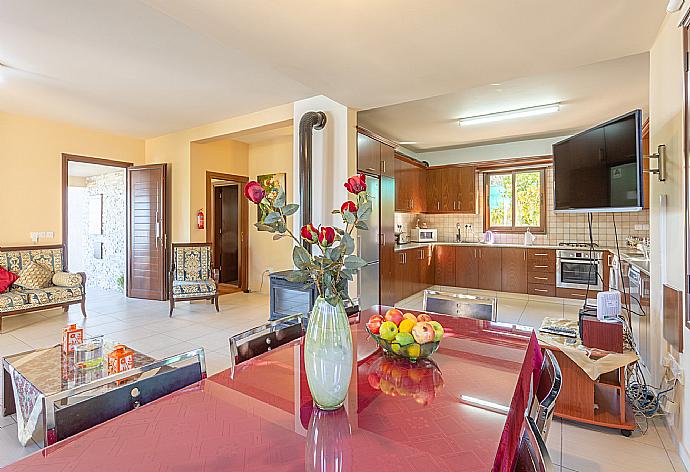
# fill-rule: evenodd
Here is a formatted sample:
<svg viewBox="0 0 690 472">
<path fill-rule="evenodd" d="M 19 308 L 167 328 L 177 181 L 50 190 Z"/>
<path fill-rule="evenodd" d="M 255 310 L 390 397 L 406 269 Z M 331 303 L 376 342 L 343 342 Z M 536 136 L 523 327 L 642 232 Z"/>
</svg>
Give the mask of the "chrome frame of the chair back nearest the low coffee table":
<svg viewBox="0 0 690 472">
<path fill-rule="evenodd" d="M 201 379 L 206 378 L 206 354 L 204 352 L 204 348 L 197 348 L 193 349 L 191 351 L 187 351 L 181 354 L 176 354 L 174 356 L 166 357 L 165 359 L 161 359 L 159 361 L 151 362 L 150 364 L 143 365 L 141 367 L 137 367 L 134 369 L 129 369 L 124 372 L 119 372 L 117 374 L 111 374 L 106 377 L 100 378 L 98 380 L 94 380 L 89 383 L 85 383 L 83 385 L 79 385 L 77 387 L 71 388 L 69 390 L 65 390 L 59 393 L 55 393 L 53 395 L 46 395 L 43 397 L 43 411 L 44 411 L 44 416 L 43 416 L 43 446 L 47 447 L 50 446 L 51 444 L 54 444 L 57 442 L 57 431 L 56 431 L 56 424 L 55 424 L 55 404 L 58 402 L 62 402 L 69 397 L 73 397 L 75 395 L 79 395 L 84 392 L 88 392 L 89 390 L 93 390 L 95 388 L 103 387 L 105 385 L 108 385 L 113 382 L 118 382 L 121 380 L 125 380 L 129 377 L 132 377 L 134 375 L 139 375 L 139 374 L 144 374 L 146 372 L 150 372 L 152 370 L 160 369 L 161 367 L 167 367 L 170 366 L 171 364 L 176 364 L 178 362 L 185 361 L 187 359 L 193 359 L 193 358 L 198 358 L 199 359 L 199 368 L 201 370 Z M 124 389 L 124 388 L 131 388 L 131 385 L 129 384 L 124 384 L 120 387 L 117 387 L 117 389 Z M 116 390 L 116 389 L 113 389 Z M 135 390 L 137 390 L 135 392 Z M 139 392 L 138 389 L 133 388 L 131 395 L 132 398 L 136 398 L 138 396 Z M 136 403 L 136 402 L 135 402 Z M 138 405 L 135 404 L 135 408 L 138 408 Z"/>
</svg>

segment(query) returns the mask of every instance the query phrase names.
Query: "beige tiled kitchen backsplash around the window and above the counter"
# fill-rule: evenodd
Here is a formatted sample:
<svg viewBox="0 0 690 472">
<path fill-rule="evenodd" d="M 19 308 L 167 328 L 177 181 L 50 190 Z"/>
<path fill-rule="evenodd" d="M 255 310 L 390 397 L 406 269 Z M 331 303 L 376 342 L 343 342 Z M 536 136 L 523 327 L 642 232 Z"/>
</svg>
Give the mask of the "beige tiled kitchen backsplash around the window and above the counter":
<svg viewBox="0 0 690 472">
<path fill-rule="evenodd" d="M 479 198 L 477 214 L 413 214 L 396 213 L 395 224 L 402 225 L 403 231 L 409 232 L 417 224 L 426 223 L 429 228 L 438 229 L 440 241 L 455 241 L 457 234 L 456 225 L 462 228 L 464 241 L 477 241 L 482 236 L 482 212 L 484 198 L 484 186 L 482 174 L 477 174 L 477 193 Z M 562 241 L 589 241 L 589 229 L 587 214 L 555 213 L 553 211 L 553 168 L 546 169 L 546 234 L 535 234 L 535 244 L 557 244 Z M 593 213 L 592 236 L 594 242 L 603 247 L 613 247 L 616 244 L 616 231 L 614 230 L 614 218 L 618 233 L 618 241 L 625 245 L 625 238 L 635 236 L 638 238 L 649 237 L 649 210 L 639 212 L 621 213 Z M 472 225 L 472 229 L 466 231 L 464 226 Z M 637 229 L 636 229 L 637 228 Z M 644 229 L 641 229 L 644 228 Z M 524 235 L 496 233 L 498 243 L 522 243 Z"/>
</svg>

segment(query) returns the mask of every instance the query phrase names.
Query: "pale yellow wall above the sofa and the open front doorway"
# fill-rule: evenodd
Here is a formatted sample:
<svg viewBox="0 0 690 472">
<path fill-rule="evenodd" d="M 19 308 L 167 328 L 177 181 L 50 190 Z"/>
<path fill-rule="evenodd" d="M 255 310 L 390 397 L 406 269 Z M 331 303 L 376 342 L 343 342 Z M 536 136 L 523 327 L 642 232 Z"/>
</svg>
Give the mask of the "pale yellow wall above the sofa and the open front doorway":
<svg viewBox="0 0 690 472">
<path fill-rule="evenodd" d="M 62 153 L 144 163 L 144 141 L 37 118 L 0 113 L 3 193 L 0 246 L 31 244 L 32 231 L 62 241 Z"/>
</svg>

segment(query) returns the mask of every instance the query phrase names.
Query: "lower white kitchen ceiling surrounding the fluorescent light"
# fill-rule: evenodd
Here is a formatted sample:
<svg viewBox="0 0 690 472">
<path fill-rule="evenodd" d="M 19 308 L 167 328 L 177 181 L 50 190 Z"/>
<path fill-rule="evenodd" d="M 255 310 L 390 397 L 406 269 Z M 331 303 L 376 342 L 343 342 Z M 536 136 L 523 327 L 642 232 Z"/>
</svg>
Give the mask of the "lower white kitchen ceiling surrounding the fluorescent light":
<svg viewBox="0 0 690 472">
<path fill-rule="evenodd" d="M 647 109 L 649 54 L 486 84 L 462 92 L 360 112 L 358 122 L 415 152 L 562 136 Z M 561 103 L 556 113 L 473 126 L 458 118 Z"/>
</svg>

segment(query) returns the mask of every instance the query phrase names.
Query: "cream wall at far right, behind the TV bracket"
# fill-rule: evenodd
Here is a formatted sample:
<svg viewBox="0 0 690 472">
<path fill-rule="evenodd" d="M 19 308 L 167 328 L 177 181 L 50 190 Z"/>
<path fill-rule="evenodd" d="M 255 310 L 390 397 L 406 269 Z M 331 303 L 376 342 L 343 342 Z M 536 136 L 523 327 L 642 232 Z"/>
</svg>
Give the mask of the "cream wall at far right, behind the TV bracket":
<svg viewBox="0 0 690 472">
<path fill-rule="evenodd" d="M 657 384 L 661 372 L 661 360 L 670 348 L 663 340 L 661 310 L 662 284 L 682 290 L 684 286 L 685 266 L 683 257 L 683 234 L 685 228 L 683 202 L 684 159 L 682 150 L 683 136 L 683 34 L 678 27 L 680 13 L 666 17 L 650 51 L 650 90 L 649 90 L 649 126 L 651 149 L 659 144 L 666 145 L 668 161 L 667 180 L 659 182 L 656 176 L 651 177 L 650 227 L 651 227 L 651 335 L 653 340 L 652 358 L 653 375 L 651 382 Z M 666 208 L 660 204 L 662 196 L 666 198 Z M 683 330 L 684 343 L 688 346 L 688 330 Z M 673 353 L 690 372 L 688 354 Z M 679 385 L 676 400 L 680 401 L 680 413 L 669 418 L 673 424 L 676 438 L 680 441 L 679 452 L 686 466 L 690 449 L 690 411 L 684 405 L 690 405 L 690 389 Z"/>
</svg>

